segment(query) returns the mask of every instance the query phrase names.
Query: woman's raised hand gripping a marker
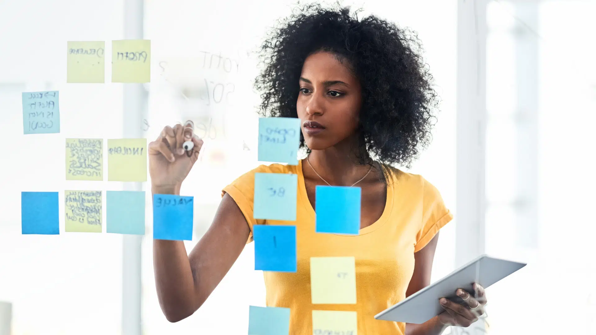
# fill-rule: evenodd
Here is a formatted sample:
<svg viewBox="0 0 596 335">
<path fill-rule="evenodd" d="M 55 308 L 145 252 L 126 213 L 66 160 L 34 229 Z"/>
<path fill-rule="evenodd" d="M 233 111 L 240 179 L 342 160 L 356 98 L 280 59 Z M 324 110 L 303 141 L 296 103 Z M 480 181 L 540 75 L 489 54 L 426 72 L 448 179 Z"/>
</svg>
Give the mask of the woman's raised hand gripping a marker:
<svg viewBox="0 0 596 335">
<path fill-rule="evenodd" d="M 175 193 L 180 190 L 182 181 L 198 159 L 203 140 L 193 134 L 193 123 L 187 122 L 173 127 L 165 126 L 162 133 L 148 145 L 149 175 L 153 193 Z M 190 151 L 182 144 L 192 141 Z"/>
</svg>

